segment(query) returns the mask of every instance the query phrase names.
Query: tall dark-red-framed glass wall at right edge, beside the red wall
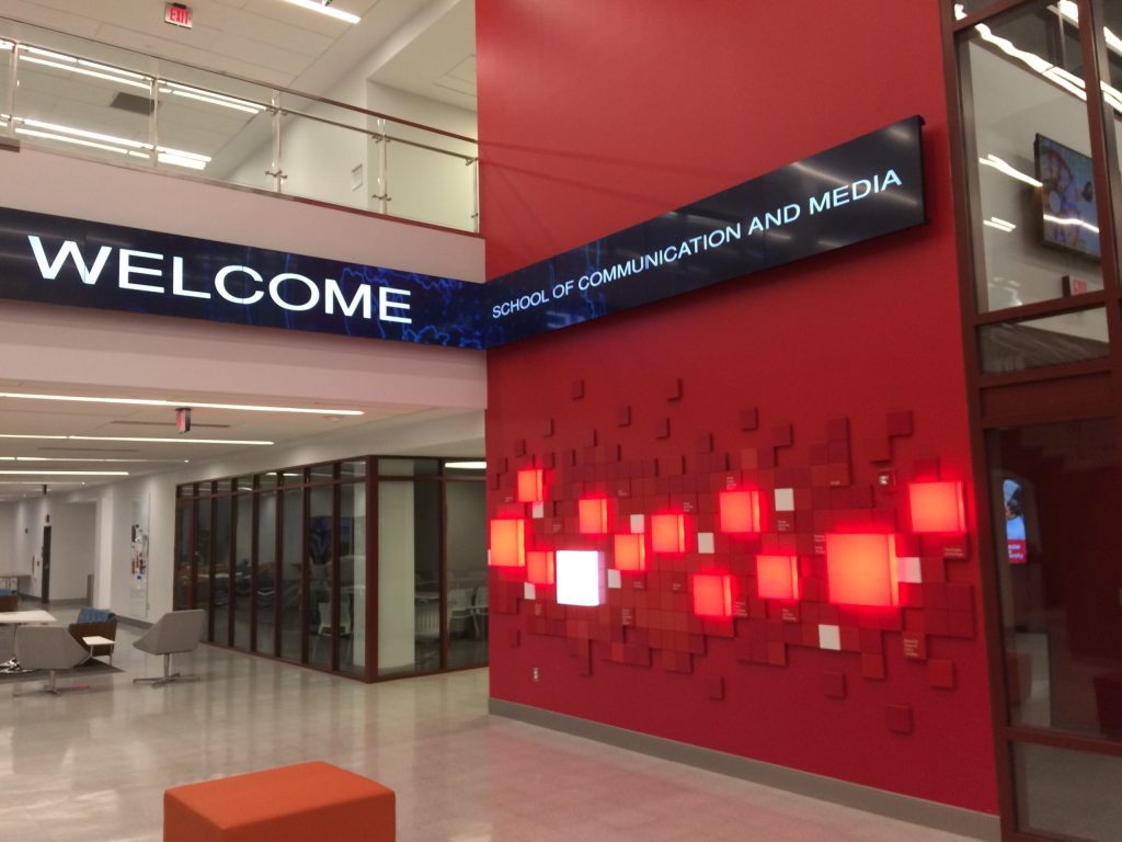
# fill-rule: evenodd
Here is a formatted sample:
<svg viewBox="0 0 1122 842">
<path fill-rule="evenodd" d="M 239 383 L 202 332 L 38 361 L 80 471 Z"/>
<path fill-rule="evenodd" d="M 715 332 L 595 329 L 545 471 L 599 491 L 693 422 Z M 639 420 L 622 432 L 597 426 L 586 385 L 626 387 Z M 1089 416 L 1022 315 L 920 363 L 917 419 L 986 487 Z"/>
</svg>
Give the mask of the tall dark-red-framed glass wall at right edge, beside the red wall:
<svg viewBox="0 0 1122 842">
<path fill-rule="evenodd" d="M 1122 827 L 1122 0 L 945 17 L 1003 839 Z"/>
</svg>

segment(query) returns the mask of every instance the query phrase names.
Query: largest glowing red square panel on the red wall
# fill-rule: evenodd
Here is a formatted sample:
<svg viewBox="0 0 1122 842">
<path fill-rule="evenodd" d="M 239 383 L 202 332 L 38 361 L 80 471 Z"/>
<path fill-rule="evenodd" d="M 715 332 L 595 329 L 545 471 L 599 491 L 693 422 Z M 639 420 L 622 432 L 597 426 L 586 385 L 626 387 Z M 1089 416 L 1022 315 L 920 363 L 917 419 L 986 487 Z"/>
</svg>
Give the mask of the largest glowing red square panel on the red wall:
<svg viewBox="0 0 1122 842">
<path fill-rule="evenodd" d="M 826 578 L 831 603 L 898 605 L 895 536 L 827 533 Z"/>
</svg>

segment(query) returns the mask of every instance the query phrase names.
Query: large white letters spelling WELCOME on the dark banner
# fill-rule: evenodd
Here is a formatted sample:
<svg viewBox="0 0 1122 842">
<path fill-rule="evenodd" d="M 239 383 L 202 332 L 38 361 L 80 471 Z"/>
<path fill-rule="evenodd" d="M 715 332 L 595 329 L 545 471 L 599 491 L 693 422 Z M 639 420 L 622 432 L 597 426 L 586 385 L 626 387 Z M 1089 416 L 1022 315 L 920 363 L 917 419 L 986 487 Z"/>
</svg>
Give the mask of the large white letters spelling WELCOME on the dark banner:
<svg viewBox="0 0 1122 842">
<path fill-rule="evenodd" d="M 82 283 L 93 286 L 101 277 L 101 273 L 104 271 L 114 250 L 112 246 L 99 247 L 93 263 L 90 264 L 86 263 L 85 256 L 82 254 L 82 247 L 74 240 L 63 240 L 54 256 L 49 256 L 43 245 L 42 238 L 28 235 L 27 239 L 31 247 L 35 263 L 38 266 L 39 275 L 44 281 L 57 281 L 67 262 L 70 262 L 77 269 L 77 275 L 82 280 Z M 212 298 L 209 290 L 187 289 L 184 281 L 184 258 L 178 255 L 173 255 L 168 258 L 165 255 L 153 251 L 137 251 L 128 248 L 116 250 L 118 285 L 121 290 L 171 294 L 188 299 L 205 300 Z M 155 283 L 141 283 L 140 277 L 164 277 L 164 264 L 167 259 L 171 259 L 172 263 L 171 290 Z M 233 286 L 237 290 L 238 284 L 234 276 L 241 276 L 240 280 L 245 286 L 245 295 L 239 295 L 230 290 L 229 285 L 231 282 L 233 282 Z M 212 285 L 219 296 L 231 304 L 249 306 L 259 304 L 266 298 L 265 290 L 260 289 L 266 286 L 265 278 L 250 266 L 223 266 L 214 274 Z M 303 291 L 300 287 L 303 287 Z M 322 304 L 323 312 L 328 315 L 334 315 L 338 310 L 347 318 L 359 315 L 368 321 L 374 318 L 374 303 L 370 289 L 371 284 L 362 281 L 348 300 L 347 294 L 334 278 L 324 278 L 323 286 L 321 287 L 312 278 L 295 272 L 283 272 L 275 275 L 267 284 L 269 301 L 282 310 L 307 312 Z M 569 283 L 569 289 L 572 289 L 572 282 Z M 412 324 L 413 319 L 410 315 L 412 304 L 408 301 L 411 294 L 410 290 L 379 286 L 378 320 Z"/>
</svg>

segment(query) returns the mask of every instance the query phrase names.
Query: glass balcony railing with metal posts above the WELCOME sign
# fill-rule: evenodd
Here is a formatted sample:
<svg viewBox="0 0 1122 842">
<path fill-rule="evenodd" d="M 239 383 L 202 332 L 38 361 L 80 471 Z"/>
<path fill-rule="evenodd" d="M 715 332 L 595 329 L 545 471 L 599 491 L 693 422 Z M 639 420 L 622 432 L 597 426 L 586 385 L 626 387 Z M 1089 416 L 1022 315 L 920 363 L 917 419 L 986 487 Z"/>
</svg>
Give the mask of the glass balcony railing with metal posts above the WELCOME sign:
<svg viewBox="0 0 1122 842">
<path fill-rule="evenodd" d="M 470 137 L 3 18 L 0 135 L 479 230 Z"/>
</svg>

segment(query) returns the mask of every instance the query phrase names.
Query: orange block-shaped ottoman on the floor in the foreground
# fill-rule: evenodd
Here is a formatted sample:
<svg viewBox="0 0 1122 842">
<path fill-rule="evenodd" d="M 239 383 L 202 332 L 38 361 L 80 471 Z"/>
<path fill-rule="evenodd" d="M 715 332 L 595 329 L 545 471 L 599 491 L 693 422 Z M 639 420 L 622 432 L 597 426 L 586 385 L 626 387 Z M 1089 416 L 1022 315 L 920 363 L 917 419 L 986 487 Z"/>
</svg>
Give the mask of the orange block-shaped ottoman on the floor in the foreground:
<svg viewBox="0 0 1122 842">
<path fill-rule="evenodd" d="M 394 790 L 324 762 L 164 793 L 164 842 L 393 842 Z"/>
</svg>

